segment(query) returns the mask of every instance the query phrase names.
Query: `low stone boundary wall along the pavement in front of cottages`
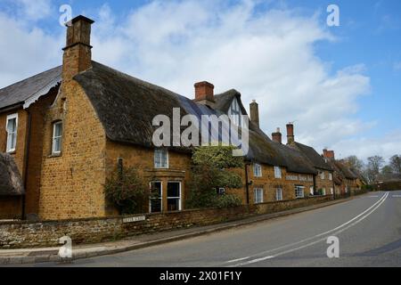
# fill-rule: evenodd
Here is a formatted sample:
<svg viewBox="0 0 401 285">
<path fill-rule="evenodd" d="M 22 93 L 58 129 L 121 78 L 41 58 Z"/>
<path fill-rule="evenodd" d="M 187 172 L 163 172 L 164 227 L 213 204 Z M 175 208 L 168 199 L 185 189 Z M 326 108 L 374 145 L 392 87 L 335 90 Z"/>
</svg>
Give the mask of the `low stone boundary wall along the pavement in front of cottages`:
<svg viewBox="0 0 401 285">
<path fill-rule="evenodd" d="M 240 220 L 249 216 L 302 208 L 331 200 L 331 196 L 271 202 L 236 208 L 208 208 L 162 214 L 118 216 L 44 222 L 0 222 L 0 248 L 57 247 L 62 236 L 74 244 L 119 240 L 151 232 L 171 231 L 208 224 Z M 141 218 L 143 221 L 127 221 Z"/>
</svg>

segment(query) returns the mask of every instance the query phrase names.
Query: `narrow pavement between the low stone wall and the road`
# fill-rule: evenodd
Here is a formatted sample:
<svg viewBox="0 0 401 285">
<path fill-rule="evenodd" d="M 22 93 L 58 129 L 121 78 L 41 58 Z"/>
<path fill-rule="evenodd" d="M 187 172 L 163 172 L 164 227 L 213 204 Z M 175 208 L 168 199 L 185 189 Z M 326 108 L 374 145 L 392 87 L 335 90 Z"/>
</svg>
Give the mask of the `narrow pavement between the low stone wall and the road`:
<svg viewBox="0 0 401 285">
<path fill-rule="evenodd" d="M 148 235 L 139 235 L 134 238 L 110 242 L 102 242 L 91 245 L 76 246 L 72 250 L 72 260 L 61 260 L 58 256 L 60 248 L 24 248 L 24 249 L 0 249 L 0 266 L 4 265 L 68 265 L 71 262 L 76 263 L 79 259 L 91 258 L 95 256 L 112 256 L 140 248 L 155 247 L 161 244 L 176 242 L 180 240 L 192 239 L 195 237 L 210 235 L 216 232 L 230 231 L 235 228 L 249 226 L 250 224 L 258 224 L 280 218 L 283 216 L 291 216 L 299 213 L 313 211 L 318 208 L 326 208 L 348 200 L 356 199 L 338 199 L 307 208 L 297 208 L 280 213 L 267 214 L 261 216 L 253 216 L 225 224 L 212 224 L 208 226 L 192 227 L 184 230 L 176 230 L 172 232 L 160 232 Z M 255 225 L 257 226 L 257 225 Z"/>
</svg>

